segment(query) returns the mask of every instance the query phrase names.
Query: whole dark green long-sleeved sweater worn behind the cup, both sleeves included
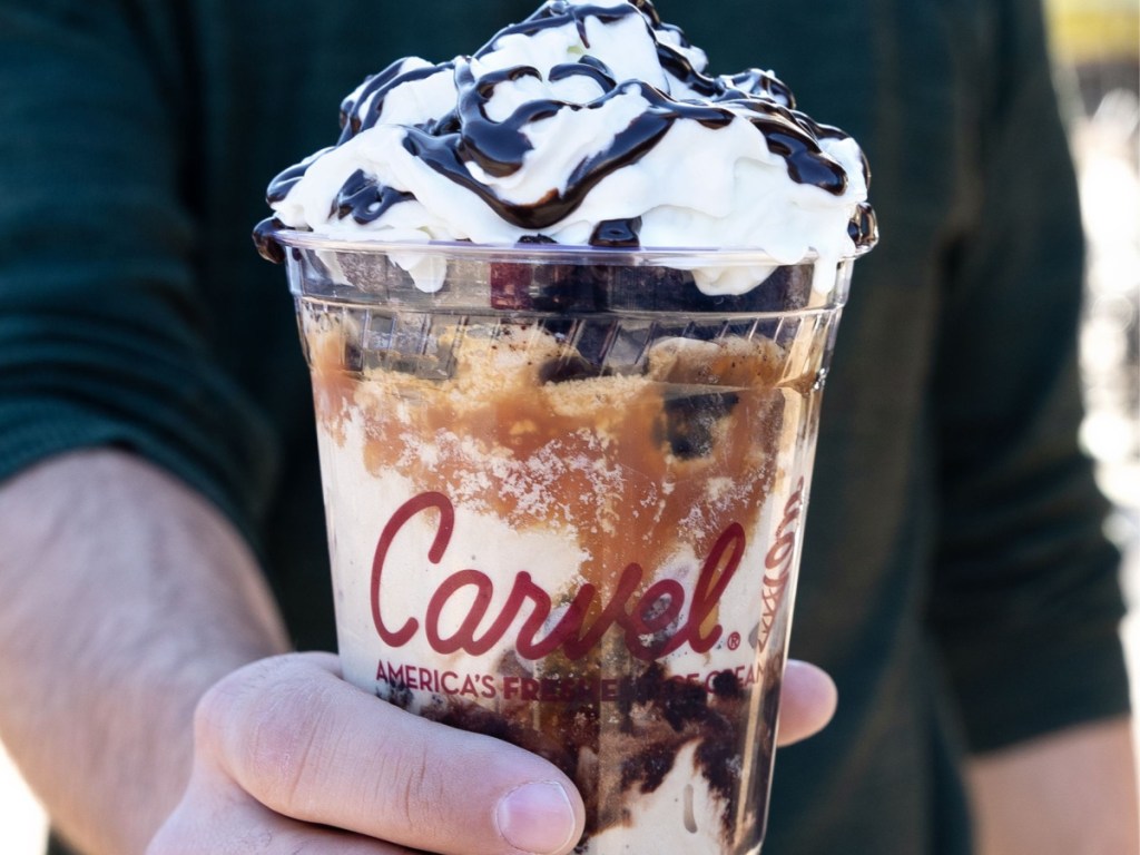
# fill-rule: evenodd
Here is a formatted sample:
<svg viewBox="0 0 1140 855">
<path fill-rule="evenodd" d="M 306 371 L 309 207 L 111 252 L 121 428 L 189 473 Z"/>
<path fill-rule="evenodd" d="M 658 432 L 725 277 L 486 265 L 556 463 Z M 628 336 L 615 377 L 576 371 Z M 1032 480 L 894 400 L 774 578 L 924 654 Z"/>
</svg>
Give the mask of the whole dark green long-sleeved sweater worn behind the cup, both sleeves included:
<svg viewBox="0 0 1140 855">
<path fill-rule="evenodd" d="M 968 852 L 956 767 L 1119 712 L 1117 556 L 1075 445 L 1082 252 L 1034 0 L 661 0 L 858 139 L 882 243 L 823 412 L 792 654 L 836 720 L 781 752 L 765 855 Z M 0 477 L 135 449 L 331 648 L 310 393 L 250 229 L 340 99 L 529 3 L 0 0 Z M 65 675 L 64 675 L 65 677 Z"/>
</svg>

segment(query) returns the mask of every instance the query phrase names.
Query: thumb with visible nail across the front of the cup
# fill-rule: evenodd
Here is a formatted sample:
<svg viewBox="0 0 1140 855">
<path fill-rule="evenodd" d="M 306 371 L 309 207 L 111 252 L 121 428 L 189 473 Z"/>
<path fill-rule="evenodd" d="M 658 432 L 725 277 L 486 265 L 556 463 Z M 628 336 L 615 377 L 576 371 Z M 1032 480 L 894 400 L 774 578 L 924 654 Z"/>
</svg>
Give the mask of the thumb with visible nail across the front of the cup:
<svg viewBox="0 0 1140 855">
<path fill-rule="evenodd" d="M 584 828 L 555 766 L 380 701 L 333 658 L 280 657 L 227 678 L 199 708 L 199 739 L 271 811 L 413 849 L 564 855 Z"/>
</svg>

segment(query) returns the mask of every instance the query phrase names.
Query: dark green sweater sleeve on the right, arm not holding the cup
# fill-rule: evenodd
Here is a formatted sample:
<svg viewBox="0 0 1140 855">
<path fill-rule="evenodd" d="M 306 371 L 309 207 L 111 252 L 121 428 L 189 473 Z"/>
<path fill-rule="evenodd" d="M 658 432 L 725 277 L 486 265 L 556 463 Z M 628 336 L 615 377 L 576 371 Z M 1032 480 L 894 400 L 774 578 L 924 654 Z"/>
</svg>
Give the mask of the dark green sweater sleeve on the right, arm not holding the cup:
<svg viewBox="0 0 1140 855">
<path fill-rule="evenodd" d="M 991 5 L 979 201 L 936 376 L 931 614 L 975 750 L 1123 712 L 1119 556 L 1077 446 L 1081 219 L 1039 3 Z"/>
</svg>

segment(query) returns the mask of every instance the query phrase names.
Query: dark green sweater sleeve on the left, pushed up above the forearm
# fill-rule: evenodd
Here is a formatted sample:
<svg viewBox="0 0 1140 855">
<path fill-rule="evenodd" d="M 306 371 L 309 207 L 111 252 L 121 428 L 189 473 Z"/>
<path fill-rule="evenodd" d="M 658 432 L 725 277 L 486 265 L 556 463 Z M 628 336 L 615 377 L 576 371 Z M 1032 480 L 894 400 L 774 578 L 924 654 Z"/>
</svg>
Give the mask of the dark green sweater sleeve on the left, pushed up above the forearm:
<svg viewBox="0 0 1140 855">
<path fill-rule="evenodd" d="M 192 99 L 164 6 L 0 1 L 0 478 L 127 448 L 250 534 L 270 440 L 196 285 Z"/>
</svg>

